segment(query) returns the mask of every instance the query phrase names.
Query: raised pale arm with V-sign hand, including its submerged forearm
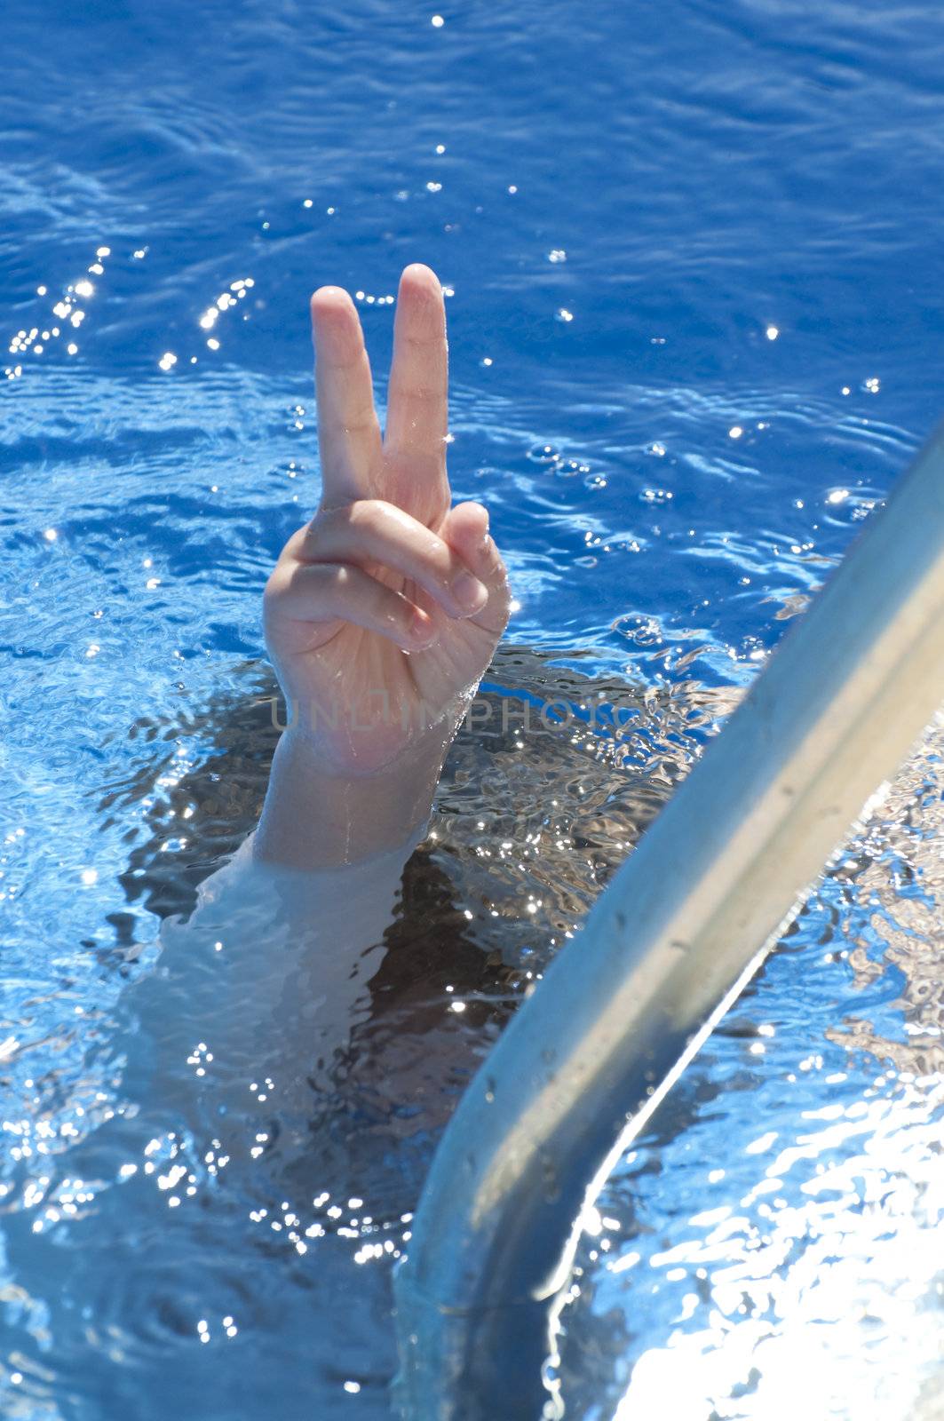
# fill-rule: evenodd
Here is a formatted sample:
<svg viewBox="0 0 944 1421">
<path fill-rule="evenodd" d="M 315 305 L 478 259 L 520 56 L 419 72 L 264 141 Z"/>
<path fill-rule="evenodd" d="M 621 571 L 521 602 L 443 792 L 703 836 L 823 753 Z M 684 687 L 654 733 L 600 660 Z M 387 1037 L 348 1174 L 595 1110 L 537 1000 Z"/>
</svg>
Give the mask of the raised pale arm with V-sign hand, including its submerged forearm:
<svg viewBox="0 0 944 1421">
<path fill-rule="evenodd" d="M 141 1040 L 158 1042 L 165 1098 L 175 1080 L 191 1098 L 182 1063 L 212 1032 L 233 1155 L 254 1108 L 246 1081 L 264 1067 L 277 1087 L 266 1111 L 301 1114 L 310 1088 L 297 1063 L 313 1043 L 327 1059 L 345 1040 L 371 972 L 365 949 L 390 922 L 445 752 L 509 612 L 486 510 L 451 503 L 434 273 L 411 266 L 399 283 L 384 439 L 350 296 L 321 287 L 311 321 L 323 497 L 264 595 L 269 652 L 296 722 L 254 836 L 200 887 L 188 922 L 165 925 L 161 975 L 129 998 Z M 168 992 L 179 1010 L 168 1010 Z M 316 999 L 314 1016 L 294 1010 Z"/>
</svg>

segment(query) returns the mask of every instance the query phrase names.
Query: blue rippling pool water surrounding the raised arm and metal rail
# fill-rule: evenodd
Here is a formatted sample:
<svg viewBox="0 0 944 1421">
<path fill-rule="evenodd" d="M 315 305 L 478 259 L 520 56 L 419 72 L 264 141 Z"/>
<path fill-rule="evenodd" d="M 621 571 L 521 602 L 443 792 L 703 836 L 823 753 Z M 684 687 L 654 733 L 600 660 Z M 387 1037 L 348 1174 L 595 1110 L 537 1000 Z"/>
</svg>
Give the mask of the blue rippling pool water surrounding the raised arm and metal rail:
<svg viewBox="0 0 944 1421">
<path fill-rule="evenodd" d="M 395 1009 L 361 1023 L 301 1175 L 263 1152 L 230 1184 L 169 1103 L 129 1104 L 127 988 L 159 990 L 162 918 L 272 749 L 243 712 L 272 691 L 262 585 L 318 496 L 307 294 L 358 293 L 382 399 L 398 273 L 439 273 L 452 483 L 520 603 L 493 682 L 633 688 L 658 800 L 940 415 L 944 14 L 51 0 L 0 38 L 0 1408 L 387 1418 L 425 1162 L 628 811 L 611 766 L 545 746 L 596 830 L 519 860 L 523 750 L 489 780 L 512 857 L 482 870 L 459 764 L 414 894 L 439 936 L 390 948 Z M 940 749 L 610 1181 L 567 1415 L 862 1421 L 933 1394 Z M 435 1029 L 411 1114 L 417 1002 L 456 980 L 481 1010 Z"/>
</svg>

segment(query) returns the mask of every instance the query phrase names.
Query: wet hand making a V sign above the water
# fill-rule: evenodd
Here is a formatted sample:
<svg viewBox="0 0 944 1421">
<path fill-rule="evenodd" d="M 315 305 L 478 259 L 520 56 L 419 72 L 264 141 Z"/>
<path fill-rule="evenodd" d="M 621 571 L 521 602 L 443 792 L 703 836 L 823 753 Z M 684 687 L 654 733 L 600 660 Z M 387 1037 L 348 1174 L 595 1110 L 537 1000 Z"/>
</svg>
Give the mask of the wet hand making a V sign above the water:
<svg viewBox="0 0 944 1421">
<path fill-rule="evenodd" d="M 428 267 L 402 273 L 382 442 L 350 296 L 316 291 L 311 327 L 321 504 L 264 595 L 287 735 L 330 776 L 425 746 L 438 766 L 509 614 L 486 510 L 451 507 L 442 288 Z"/>
</svg>

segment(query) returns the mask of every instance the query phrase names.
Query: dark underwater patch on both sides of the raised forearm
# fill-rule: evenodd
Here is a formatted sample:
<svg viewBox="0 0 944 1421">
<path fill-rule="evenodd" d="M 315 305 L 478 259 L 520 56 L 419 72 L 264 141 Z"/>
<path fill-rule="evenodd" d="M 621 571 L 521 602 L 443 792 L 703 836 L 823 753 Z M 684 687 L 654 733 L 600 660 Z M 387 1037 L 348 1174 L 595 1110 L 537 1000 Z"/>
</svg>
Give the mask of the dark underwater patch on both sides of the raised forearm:
<svg viewBox="0 0 944 1421">
<path fill-rule="evenodd" d="M 182 730 L 209 742 L 213 752 L 192 772 L 161 776 L 163 791 L 151 772 L 102 801 L 109 813 L 149 803 L 151 837 L 134 845 L 122 885 L 129 902 L 161 918 L 188 917 L 199 884 L 256 823 L 284 720 L 267 668 L 245 672 L 252 693 L 242 701 L 222 698 L 186 726 L 135 726 L 136 736 L 175 746 Z M 363 953 L 370 969 L 350 1037 L 327 1073 L 317 1061 L 311 1154 L 296 1151 L 291 1165 L 310 1168 L 303 1194 L 307 1184 L 324 1192 L 316 1185 L 330 1154 L 333 1196 L 338 1171 L 363 1196 L 367 1171 L 387 1212 L 415 1204 L 471 1074 L 732 703 L 694 681 L 633 688 L 527 648 L 499 649 L 448 756 L 380 951 Z M 131 914 L 114 918 L 125 958 L 135 952 L 132 925 Z M 377 1171 L 378 1138 L 397 1142 L 395 1181 L 390 1168 Z M 270 1141 L 270 1165 L 276 1152 Z"/>
</svg>

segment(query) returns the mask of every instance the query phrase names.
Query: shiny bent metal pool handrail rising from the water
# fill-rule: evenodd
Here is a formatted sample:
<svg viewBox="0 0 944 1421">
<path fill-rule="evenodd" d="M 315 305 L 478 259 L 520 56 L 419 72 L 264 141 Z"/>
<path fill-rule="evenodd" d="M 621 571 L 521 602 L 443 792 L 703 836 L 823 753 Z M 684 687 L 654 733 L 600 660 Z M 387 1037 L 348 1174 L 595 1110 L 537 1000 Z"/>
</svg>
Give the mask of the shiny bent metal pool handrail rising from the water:
<svg viewBox="0 0 944 1421">
<path fill-rule="evenodd" d="M 554 959 L 439 1145 L 397 1275 L 408 1421 L 560 1414 L 581 1209 L 944 702 L 944 432 Z"/>
</svg>

